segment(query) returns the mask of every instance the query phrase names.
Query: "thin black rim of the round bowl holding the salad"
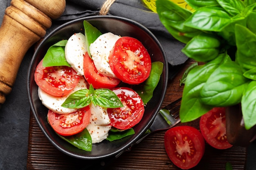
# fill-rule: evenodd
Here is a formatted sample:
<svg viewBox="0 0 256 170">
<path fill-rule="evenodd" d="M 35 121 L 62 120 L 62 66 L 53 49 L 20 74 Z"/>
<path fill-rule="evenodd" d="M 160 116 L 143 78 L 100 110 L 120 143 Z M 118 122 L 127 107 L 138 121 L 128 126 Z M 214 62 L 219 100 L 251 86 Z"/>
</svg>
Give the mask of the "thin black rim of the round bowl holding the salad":
<svg viewBox="0 0 256 170">
<path fill-rule="evenodd" d="M 28 72 L 27 72 L 27 95 L 28 95 L 28 99 L 29 99 L 30 109 L 31 109 L 32 114 L 34 115 L 34 118 L 36 119 L 36 122 L 37 122 L 40 130 L 43 132 L 45 137 L 47 137 L 47 139 L 50 141 L 50 143 L 55 148 L 57 148 L 61 152 L 65 153 L 66 155 L 69 155 L 69 156 L 72 156 L 72 157 L 75 157 L 75 158 L 79 158 L 79 159 L 88 159 L 88 160 L 102 159 L 102 158 L 107 158 L 107 157 L 110 157 L 110 156 L 117 157 L 117 155 L 119 156 L 119 155 L 121 155 L 121 153 L 123 153 L 123 152 L 125 152 L 127 150 L 130 150 L 130 147 L 132 147 L 134 144 L 138 143 L 137 141 L 139 141 L 141 135 L 143 135 L 146 132 L 146 130 L 148 130 L 148 128 L 151 126 L 151 124 L 153 124 L 153 121 L 155 120 L 155 117 L 157 116 L 157 113 L 155 113 L 154 116 L 150 119 L 150 121 L 146 124 L 146 126 L 144 126 L 142 128 L 142 130 L 137 134 L 137 136 L 134 139 L 132 139 L 132 141 L 130 141 L 126 146 L 122 147 L 119 150 L 116 150 L 115 152 L 112 152 L 111 154 L 105 155 L 104 157 L 88 157 L 88 156 L 75 155 L 75 154 L 73 154 L 71 152 L 63 150 L 63 148 L 61 148 L 60 146 L 55 144 L 54 141 L 51 140 L 51 138 L 49 137 L 49 135 L 47 134 L 47 132 L 45 131 L 45 129 L 41 125 L 41 122 L 40 122 L 40 120 L 37 117 L 36 110 L 35 110 L 35 108 L 33 106 L 32 97 L 30 95 L 30 84 L 31 84 L 31 81 L 33 81 L 33 80 L 30 79 L 30 77 L 31 77 L 31 74 L 34 75 L 34 72 L 31 70 L 31 68 L 33 67 L 33 64 L 34 64 L 34 62 L 36 60 L 38 49 L 40 49 L 40 47 L 43 46 L 43 44 L 47 41 L 48 38 L 50 38 L 52 35 L 54 35 L 54 33 L 56 33 L 58 30 L 64 28 L 65 26 L 73 24 L 75 22 L 80 22 L 80 21 L 83 21 L 83 20 L 90 20 L 90 19 L 97 19 L 97 18 L 110 18 L 110 19 L 116 19 L 116 20 L 121 20 L 121 21 L 124 21 L 124 22 L 128 22 L 130 24 L 135 24 L 136 26 L 139 26 L 140 29 L 145 31 L 148 35 L 150 35 L 150 37 L 153 38 L 153 40 L 159 46 L 159 49 L 162 51 L 162 55 L 164 57 L 163 59 L 164 59 L 165 63 L 164 63 L 163 73 L 165 72 L 165 76 L 164 76 L 164 81 L 163 81 L 164 89 L 162 89 L 163 90 L 163 95 L 159 99 L 159 101 L 160 101 L 159 106 L 156 106 L 157 107 L 157 113 L 159 112 L 159 110 L 160 110 L 160 108 L 162 106 L 162 103 L 164 101 L 164 97 L 165 97 L 166 90 L 167 90 L 167 84 L 168 84 L 168 61 L 167 61 L 166 53 L 165 53 L 162 45 L 160 44 L 159 40 L 156 38 L 156 36 L 148 28 L 146 28 L 146 26 L 140 24 L 137 21 L 134 21 L 134 20 L 131 20 L 131 19 L 128 19 L 128 18 L 124 18 L 124 17 L 114 16 L 114 15 L 87 16 L 87 17 L 82 17 L 82 18 L 78 18 L 78 19 L 75 19 L 75 20 L 71 20 L 71 21 L 65 22 L 64 24 L 61 24 L 60 26 L 57 26 L 54 30 L 52 30 L 49 34 L 47 34 L 43 38 L 43 40 L 39 43 L 39 45 L 36 48 L 36 50 L 34 51 L 34 54 L 33 54 L 32 58 L 31 58 L 31 61 L 30 61 L 30 64 L 29 64 L 29 68 L 28 68 Z"/>
</svg>

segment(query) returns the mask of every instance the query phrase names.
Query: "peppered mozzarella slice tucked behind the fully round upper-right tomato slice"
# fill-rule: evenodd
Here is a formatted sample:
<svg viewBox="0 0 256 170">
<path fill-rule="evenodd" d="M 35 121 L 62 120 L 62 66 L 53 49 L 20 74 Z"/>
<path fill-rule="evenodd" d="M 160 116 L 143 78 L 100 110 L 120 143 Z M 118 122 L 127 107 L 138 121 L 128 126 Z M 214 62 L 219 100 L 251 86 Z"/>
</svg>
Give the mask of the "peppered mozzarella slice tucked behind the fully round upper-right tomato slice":
<svg viewBox="0 0 256 170">
<path fill-rule="evenodd" d="M 105 33 L 90 45 L 92 60 L 99 73 L 116 78 L 108 64 L 108 56 L 119 38 L 118 35 L 113 33 Z"/>
</svg>

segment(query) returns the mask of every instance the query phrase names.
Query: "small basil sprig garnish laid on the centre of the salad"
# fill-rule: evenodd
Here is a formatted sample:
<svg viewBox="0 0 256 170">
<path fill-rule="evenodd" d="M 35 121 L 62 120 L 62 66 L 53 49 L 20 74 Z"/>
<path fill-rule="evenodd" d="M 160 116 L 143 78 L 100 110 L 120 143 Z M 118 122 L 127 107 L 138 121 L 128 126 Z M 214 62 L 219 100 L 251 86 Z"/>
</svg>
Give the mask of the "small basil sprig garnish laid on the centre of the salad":
<svg viewBox="0 0 256 170">
<path fill-rule="evenodd" d="M 105 108 L 123 107 L 122 102 L 113 91 L 107 88 L 94 90 L 92 84 L 90 84 L 89 89 L 81 89 L 72 93 L 61 106 L 65 108 L 83 108 L 91 102 L 95 106 L 98 105 Z"/>
</svg>

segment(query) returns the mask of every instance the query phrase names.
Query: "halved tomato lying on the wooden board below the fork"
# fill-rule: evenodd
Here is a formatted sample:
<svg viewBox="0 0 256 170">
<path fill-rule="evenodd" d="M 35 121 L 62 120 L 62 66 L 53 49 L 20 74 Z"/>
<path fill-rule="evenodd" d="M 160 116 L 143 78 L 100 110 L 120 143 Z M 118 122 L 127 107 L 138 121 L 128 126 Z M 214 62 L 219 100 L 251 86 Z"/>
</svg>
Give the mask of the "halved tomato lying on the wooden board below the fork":
<svg viewBox="0 0 256 170">
<path fill-rule="evenodd" d="M 164 146 L 168 157 L 179 168 L 196 166 L 204 155 L 204 137 L 191 126 L 176 126 L 166 131 Z"/>
</svg>

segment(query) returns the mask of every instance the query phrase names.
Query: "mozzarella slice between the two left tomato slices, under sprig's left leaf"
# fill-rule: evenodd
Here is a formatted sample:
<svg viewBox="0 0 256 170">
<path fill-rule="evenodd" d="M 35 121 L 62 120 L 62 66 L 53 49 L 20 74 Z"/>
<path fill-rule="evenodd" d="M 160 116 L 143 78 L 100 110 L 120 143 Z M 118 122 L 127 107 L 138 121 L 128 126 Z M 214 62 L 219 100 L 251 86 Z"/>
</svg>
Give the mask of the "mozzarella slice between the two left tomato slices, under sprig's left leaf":
<svg viewBox="0 0 256 170">
<path fill-rule="evenodd" d="M 64 96 L 53 96 L 45 91 L 43 91 L 41 88 L 38 87 L 38 96 L 39 99 L 42 101 L 42 104 L 47 107 L 48 109 L 59 113 L 59 114 L 68 114 L 75 112 L 77 109 L 75 108 L 64 108 L 61 106 L 63 102 L 67 99 L 67 97 L 74 93 L 75 91 L 78 91 L 80 89 L 85 89 L 87 88 L 87 82 L 85 82 L 85 79 L 83 77 L 80 78 L 78 84 L 76 87 L 67 95 Z"/>
</svg>

